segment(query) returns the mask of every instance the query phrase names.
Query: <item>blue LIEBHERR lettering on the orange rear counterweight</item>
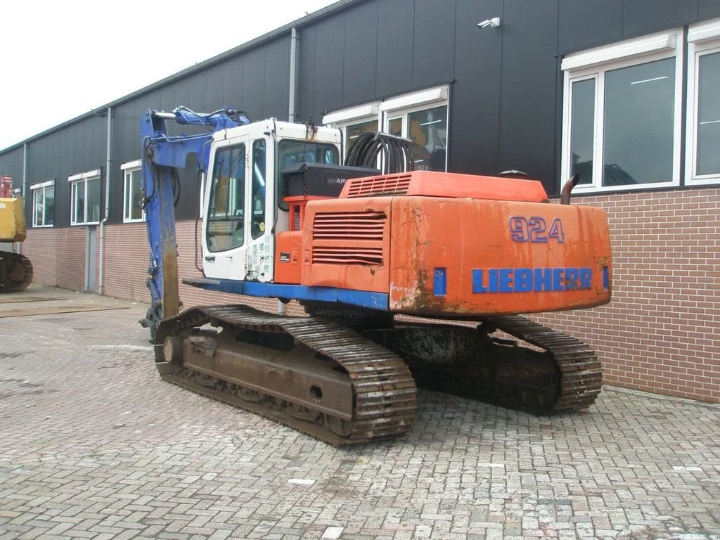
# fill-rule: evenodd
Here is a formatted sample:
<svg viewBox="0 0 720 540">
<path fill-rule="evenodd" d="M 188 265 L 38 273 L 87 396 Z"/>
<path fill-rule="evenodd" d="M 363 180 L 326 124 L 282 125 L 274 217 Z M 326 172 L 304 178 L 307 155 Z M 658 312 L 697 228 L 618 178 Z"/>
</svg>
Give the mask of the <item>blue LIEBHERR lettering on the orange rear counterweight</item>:
<svg viewBox="0 0 720 540">
<path fill-rule="evenodd" d="M 603 284 L 604 284 L 603 276 Z M 593 287 L 590 268 L 488 268 L 472 270 L 472 292 L 556 292 Z"/>
</svg>

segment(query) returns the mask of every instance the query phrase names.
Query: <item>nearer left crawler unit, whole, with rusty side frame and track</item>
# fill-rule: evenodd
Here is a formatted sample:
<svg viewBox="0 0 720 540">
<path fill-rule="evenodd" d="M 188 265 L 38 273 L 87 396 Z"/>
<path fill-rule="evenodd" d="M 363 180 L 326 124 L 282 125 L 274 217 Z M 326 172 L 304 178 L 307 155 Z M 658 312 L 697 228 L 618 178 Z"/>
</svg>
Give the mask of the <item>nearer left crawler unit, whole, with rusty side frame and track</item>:
<svg viewBox="0 0 720 540">
<path fill-rule="evenodd" d="M 208 323 L 220 332 L 198 330 Z M 330 444 L 402 435 L 415 420 L 415 381 L 407 364 L 326 318 L 271 315 L 243 305 L 196 307 L 163 320 L 156 344 L 158 371 L 168 382 Z"/>
</svg>

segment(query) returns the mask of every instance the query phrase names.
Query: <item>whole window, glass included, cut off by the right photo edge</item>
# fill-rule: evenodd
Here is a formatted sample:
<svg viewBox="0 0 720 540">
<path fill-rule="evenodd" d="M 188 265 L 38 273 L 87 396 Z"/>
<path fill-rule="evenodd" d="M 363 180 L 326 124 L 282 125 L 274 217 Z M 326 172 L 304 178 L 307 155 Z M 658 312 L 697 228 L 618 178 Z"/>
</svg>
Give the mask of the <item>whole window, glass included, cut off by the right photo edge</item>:
<svg viewBox="0 0 720 540">
<path fill-rule="evenodd" d="M 720 182 L 720 19 L 688 31 L 686 184 Z"/>
</svg>

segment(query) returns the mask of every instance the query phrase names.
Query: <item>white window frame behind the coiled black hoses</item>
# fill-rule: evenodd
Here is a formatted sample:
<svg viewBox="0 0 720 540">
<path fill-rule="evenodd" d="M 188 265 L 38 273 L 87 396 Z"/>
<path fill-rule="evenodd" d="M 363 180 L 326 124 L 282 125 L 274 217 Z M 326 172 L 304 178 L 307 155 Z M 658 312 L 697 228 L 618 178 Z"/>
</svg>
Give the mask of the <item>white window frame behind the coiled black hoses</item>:
<svg viewBox="0 0 720 540">
<path fill-rule="evenodd" d="M 351 125 L 361 124 L 363 122 L 371 122 L 377 120 L 379 130 L 388 132 L 388 122 L 392 118 L 402 116 L 405 120 L 402 125 L 402 136 L 408 136 L 409 113 L 432 109 L 433 107 L 447 107 L 447 117 L 445 125 L 450 125 L 450 89 L 449 86 L 436 86 L 431 89 L 420 90 L 410 94 L 402 94 L 382 102 L 371 102 L 359 105 L 357 107 L 349 107 L 348 109 L 340 109 L 338 111 L 325 114 L 323 124 L 335 125 L 343 132 L 343 141 L 345 141 L 346 149 L 351 141 L 347 140 L 347 128 Z M 450 145 L 449 132 L 446 134 L 446 153 Z M 347 150 L 346 150 L 347 151 Z M 445 158 L 445 170 L 447 171 L 447 155 Z"/>
</svg>

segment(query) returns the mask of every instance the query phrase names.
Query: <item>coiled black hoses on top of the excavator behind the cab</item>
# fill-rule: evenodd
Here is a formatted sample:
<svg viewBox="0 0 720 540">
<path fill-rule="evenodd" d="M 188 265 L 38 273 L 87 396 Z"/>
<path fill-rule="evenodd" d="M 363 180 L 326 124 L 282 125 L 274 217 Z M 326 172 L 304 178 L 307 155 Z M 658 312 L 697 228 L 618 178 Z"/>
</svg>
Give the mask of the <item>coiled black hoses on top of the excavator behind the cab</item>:
<svg viewBox="0 0 720 540">
<path fill-rule="evenodd" d="M 412 143 L 410 139 L 367 131 L 358 135 L 348 149 L 345 164 L 350 167 L 379 168 L 382 174 L 412 171 Z"/>
</svg>

